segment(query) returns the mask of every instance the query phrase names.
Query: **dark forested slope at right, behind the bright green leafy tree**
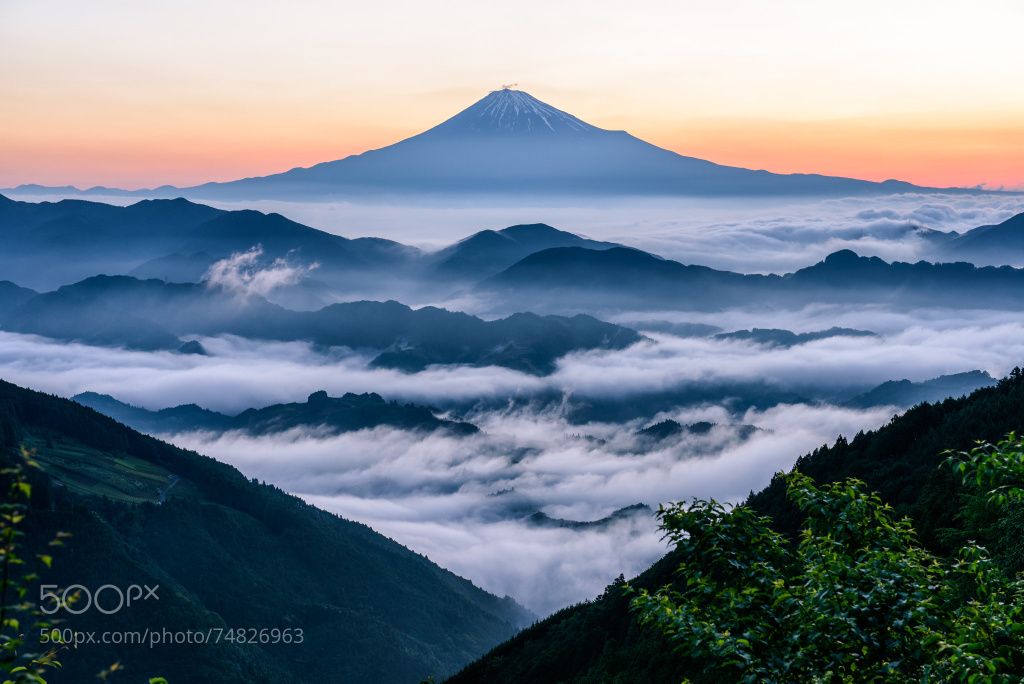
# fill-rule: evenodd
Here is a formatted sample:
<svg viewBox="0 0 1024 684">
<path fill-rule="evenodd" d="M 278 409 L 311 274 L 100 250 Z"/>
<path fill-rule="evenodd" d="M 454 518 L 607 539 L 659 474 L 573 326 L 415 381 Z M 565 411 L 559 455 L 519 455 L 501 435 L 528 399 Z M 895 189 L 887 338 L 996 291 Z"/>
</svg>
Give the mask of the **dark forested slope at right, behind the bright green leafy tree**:
<svg viewBox="0 0 1024 684">
<path fill-rule="evenodd" d="M 941 467 L 946 450 L 969 451 L 977 440 L 995 442 L 1024 426 L 1024 373 L 1013 373 L 995 386 L 968 397 L 922 403 L 878 430 L 840 437 L 800 458 L 797 468 L 818 483 L 855 477 L 878 491 L 897 514 L 909 516 L 920 543 L 941 557 L 967 540 L 985 546 L 1007 570 L 1024 569 L 1024 515 L 997 518 L 978 504 L 957 476 Z M 770 516 L 773 526 L 791 538 L 803 519 L 786 498 L 784 478 L 776 476 L 745 502 Z M 680 564 L 673 551 L 630 582 L 654 591 L 676 582 Z M 609 682 L 678 684 L 716 682 L 703 662 L 672 652 L 653 628 L 641 628 L 630 610 L 632 595 L 612 583 L 593 601 L 570 606 L 520 632 L 483 658 L 446 680 L 450 684 L 487 682 Z M 678 583 L 677 583 L 678 586 Z"/>
</svg>

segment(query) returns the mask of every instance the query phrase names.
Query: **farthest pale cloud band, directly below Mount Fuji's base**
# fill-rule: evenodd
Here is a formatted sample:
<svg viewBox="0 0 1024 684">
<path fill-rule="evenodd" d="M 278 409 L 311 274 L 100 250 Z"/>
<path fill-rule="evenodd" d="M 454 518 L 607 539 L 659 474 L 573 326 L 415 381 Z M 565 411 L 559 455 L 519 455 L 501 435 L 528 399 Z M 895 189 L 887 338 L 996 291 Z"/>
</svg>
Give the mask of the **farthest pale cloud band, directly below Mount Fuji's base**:
<svg viewBox="0 0 1024 684">
<path fill-rule="evenodd" d="M 1024 212 L 1022 195 L 893 195 L 834 200 L 727 198 L 608 199 L 512 203 L 444 198 L 408 204 L 260 202 L 225 209 L 275 211 L 347 238 L 377 236 L 427 250 L 477 230 L 544 222 L 595 240 L 618 242 L 683 263 L 744 273 L 784 273 L 841 249 L 887 261 L 931 259 L 912 228 L 964 232 Z M 1024 265 L 1024 264 L 1017 264 Z"/>
</svg>

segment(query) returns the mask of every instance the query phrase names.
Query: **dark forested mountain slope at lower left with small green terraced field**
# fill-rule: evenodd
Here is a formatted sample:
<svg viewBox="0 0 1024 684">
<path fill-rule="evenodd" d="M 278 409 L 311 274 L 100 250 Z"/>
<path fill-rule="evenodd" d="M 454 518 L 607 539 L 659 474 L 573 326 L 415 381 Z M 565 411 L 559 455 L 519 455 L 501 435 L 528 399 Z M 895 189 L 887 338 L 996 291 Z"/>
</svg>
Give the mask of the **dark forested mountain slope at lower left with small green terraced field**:
<svg viewBox="0 0 1024 684">
<path fill-rule="evenodd" d="M 62 627 L 303 631 L 287 644 L 89 644 L 51 682 L 120 660 L 126 681 L 415 683 L 532 618 L 365 525 L 75 402 L 0 381 L 0 458 L 25 443 L 46 472 L 34 475 L 30 546 L 72 532 L 40 583 L 160 585 L 159 601 Z"/>
</svg>

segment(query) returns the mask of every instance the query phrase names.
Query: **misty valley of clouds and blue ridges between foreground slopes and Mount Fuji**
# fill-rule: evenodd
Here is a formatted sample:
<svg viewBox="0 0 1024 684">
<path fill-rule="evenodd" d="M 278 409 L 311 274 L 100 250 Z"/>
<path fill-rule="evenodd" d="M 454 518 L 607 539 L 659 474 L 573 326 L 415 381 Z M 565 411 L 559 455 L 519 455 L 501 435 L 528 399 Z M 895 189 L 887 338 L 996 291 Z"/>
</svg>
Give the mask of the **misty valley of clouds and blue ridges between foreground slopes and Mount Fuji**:
<svg viewBox="0 0 1024 684">
<path fill-rule="evenodd" d="M 1007 266 L 840 250 L 744 273 L 541 223 L 428 251 L 185 200 L 2 206 L 17 221 L 4 240 L 30 252 L 50 249 L 52 221 L 134 226 L 109 274 L 4 284 L 5 378 L 540 615 L 656 560 L 657 504 L 740 501 L 799 454 L 991 385 L 1024 352 L 1024 271 Z M 84 264 L 110 251 L 91 244 Z"/>
</svg>

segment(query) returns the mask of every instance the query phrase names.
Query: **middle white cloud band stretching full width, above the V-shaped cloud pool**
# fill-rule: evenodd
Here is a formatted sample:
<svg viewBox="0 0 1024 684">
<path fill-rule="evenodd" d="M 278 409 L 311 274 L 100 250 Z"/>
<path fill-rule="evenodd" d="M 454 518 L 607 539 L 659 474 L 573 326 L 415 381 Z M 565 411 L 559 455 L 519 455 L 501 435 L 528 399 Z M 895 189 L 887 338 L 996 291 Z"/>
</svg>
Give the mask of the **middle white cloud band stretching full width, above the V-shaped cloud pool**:
<svg viewBox="0 0 1024 684">
<path fill-rule="evenodd" d="M 647 315 L 644 318 L 650 320 Z M 873 330 L 880 336 L 834 337 L 770 348 L 741 340 L 648 332 L 649 341 L 622 351 L 566 356 L 554 374 L 539 378 L 496 367 L 432 367 L 413 375 L 371 370 L 366 354 L 345 348 L 314 349 L 302 342 L 201 338 L 210 355 L 200 356 L 60 344 L 0 332 L 0 377 L 62 396 L 96 391 L 146 409 L 199 403 L 238 413 L 302 401 L 319 389 L 332 396 L 378 392 L 388 399 L 442 408 L 465 408 L 477 400 L 504 402 L 541 392 L 629 397 L 694 383 L 764 382 L 787 389 L 855 391 L 886 380 L 920 382 L 976 369 L 1000 377 L 1024 361 L 1024 323 L 1013 312 L 893 313 L 824 307 L 787 313 L 666 312 L 654 317 L 678 317 L 725 330 L 778 327 L 808 332 L 835 325 Z M 641 330 L 642 323 L 636 324 Z"/>
</svg>

